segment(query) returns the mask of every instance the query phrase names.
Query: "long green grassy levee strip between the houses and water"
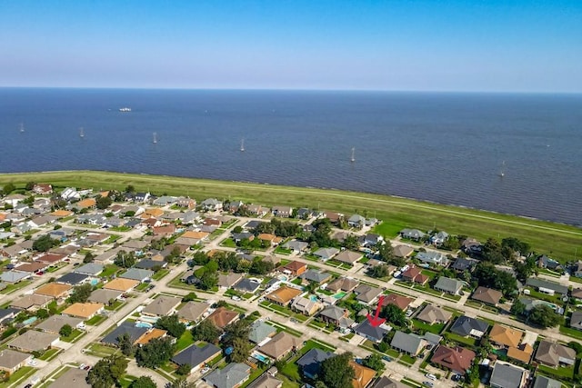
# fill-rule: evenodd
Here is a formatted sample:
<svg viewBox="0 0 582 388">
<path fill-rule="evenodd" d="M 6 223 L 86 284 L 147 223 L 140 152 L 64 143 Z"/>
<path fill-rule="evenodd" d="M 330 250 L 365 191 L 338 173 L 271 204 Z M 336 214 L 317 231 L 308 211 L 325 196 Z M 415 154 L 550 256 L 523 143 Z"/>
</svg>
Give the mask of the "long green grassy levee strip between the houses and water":
<svg viewBox="0 0 582 388">
<path fill-rule="evenodd" d="M 306 206 L 346 214 L 367 211 L 368 216 L 376 214 L 376 218 L 384 221 L 377 231 L 387 236 L 394 236 L 405 227 L 428 230 L 436 224 L 438 229 L 448 233 L 467 234 L 481 240 L 517 237 L 531 244 L 537 253 L 550 254 L 561 261 L 571 260 L 576 247 L 582 247 L 582 229 L 576 226 L 382 194 L 101 171 L 0 174 L 0 184 L 11 182 L 17 188 L 31 181 L 95 190 L 123 190 L 133 184 L 138 191 L 189 194 L 198 201 L 216 197 L 266 205 Z"/>
</svg>

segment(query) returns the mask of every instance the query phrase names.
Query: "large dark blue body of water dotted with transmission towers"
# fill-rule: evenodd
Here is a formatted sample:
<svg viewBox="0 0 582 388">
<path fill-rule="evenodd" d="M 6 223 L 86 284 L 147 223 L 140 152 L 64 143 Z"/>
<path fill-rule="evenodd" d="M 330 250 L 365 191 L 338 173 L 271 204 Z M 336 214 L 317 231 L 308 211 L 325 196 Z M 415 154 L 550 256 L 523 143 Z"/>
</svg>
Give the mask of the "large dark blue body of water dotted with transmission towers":
<svg viewBox="0 0 582 388">
<path fill-rule="evenodd" d="M 0 89 L 0 134 L 1 173 L 333 187 L 582 224 L 582 95 Z"/>
</svg>

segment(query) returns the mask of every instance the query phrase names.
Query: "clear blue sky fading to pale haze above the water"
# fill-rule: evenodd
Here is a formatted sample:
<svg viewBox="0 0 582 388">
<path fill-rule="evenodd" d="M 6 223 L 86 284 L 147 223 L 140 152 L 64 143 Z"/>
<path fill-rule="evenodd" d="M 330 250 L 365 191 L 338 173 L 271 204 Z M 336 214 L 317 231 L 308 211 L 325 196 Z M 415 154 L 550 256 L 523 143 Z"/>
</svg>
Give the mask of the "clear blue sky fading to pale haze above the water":
<svg viewBox="0 0 582 388">
<path fill-rule="evenodd" d="M 4 0 L 0 25 L 0 86 L 582 92 L 580 0 Z"/>
</svg>

